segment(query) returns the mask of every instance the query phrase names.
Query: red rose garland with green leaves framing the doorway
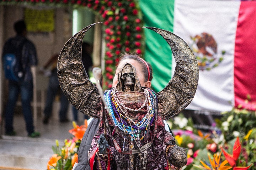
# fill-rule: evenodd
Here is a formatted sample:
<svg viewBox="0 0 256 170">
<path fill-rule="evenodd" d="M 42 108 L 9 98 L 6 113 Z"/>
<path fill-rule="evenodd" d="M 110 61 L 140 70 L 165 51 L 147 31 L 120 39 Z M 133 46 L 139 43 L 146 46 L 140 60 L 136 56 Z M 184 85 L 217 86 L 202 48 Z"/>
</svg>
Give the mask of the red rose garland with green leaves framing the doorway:
<svg viewBox="0 0 256 170">
<path fill-rule="evenodd" d="M 105 26 L 105 87 L 112 87 L 115 66 L 121 53 L 142 53 L 142 23 L 137 0 L 2 0 L 6 4 L 11 2 L 80 5 L 98 12 Z"/>
</svg>

